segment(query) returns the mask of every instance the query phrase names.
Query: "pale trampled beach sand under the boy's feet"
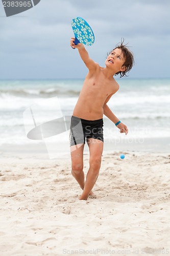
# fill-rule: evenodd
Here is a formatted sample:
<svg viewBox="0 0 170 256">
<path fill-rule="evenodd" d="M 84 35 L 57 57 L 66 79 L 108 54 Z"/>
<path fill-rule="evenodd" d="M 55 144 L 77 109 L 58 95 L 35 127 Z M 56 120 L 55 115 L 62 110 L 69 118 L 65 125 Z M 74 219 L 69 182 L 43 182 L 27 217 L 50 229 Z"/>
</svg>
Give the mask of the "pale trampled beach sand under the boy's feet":
<svg viewBox="0 0 170 256">
<path fill-rule="evenodd" d="M 96 198 L 80 201 L 69 155 L 2 153 L 1 256 L 169 255 L 170 155 L 124 154 L 103 154 Z"/>
</svg>

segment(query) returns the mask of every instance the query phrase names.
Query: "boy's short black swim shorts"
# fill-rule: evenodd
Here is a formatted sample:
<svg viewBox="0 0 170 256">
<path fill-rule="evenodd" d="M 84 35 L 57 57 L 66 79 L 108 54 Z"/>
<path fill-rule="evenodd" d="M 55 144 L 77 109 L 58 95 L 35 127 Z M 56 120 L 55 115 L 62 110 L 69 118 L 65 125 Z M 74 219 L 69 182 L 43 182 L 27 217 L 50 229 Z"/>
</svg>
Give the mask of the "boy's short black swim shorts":
<svg viewBox="0 0 170 256">
<path fill-rule="evenodd" d="M 103 140 L 103 118 L 85 120 L 76 116 L 71 117 L 69 141 L 70 146 L 85 144 L 85 138 Z"/>
</svg>

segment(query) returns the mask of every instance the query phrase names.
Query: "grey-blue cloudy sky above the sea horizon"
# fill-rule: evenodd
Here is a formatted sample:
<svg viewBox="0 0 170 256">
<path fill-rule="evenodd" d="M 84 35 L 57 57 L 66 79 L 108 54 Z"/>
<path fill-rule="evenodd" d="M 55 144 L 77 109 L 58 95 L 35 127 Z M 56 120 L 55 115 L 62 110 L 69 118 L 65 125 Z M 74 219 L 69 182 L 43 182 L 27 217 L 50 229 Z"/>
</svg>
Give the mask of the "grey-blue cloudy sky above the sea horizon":
<svg viewBox="0 0 170 256">
<path fill-rule="evenodd" d="M 170 77 L 169 12 L 169 0 L 41 0 L 6 17 L 1 2 L 0 79 L 83 78 L 87 69 L 69 46 L 76 16 L 92 27 L 95 42 L 86 49 L 101 66 L 124 37 L 135 57 L 130 78 Z"/>
</svg>

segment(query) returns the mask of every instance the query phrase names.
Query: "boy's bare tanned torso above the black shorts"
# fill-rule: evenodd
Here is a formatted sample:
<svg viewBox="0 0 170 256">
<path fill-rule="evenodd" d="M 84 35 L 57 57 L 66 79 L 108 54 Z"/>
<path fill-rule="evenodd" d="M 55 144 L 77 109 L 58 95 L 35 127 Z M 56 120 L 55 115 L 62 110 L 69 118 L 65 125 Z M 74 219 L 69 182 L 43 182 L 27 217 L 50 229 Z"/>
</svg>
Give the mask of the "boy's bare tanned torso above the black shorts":
<svg viewBox="0 0 170 256">
<path fill-rule="evenodd" d="M 101 67 L 90 74 L 87 74 L 84 84 L 75 106 L 73 115 L 86 120 L 96 120 L 103 118 L 103 105 L 110 94 L 117 90 L 117 82 L 107 79 Z"/>
</svg>

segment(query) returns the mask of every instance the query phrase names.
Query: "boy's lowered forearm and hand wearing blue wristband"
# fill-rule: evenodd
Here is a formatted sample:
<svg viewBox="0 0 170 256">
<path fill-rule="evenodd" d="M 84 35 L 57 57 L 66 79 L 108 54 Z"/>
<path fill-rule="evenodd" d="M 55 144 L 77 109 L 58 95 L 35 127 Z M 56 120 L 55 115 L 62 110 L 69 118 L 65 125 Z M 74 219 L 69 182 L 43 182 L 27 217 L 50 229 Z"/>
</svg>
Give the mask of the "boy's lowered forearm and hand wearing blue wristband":
<svg viewBox="0 0 170 256">
<path fill-rule="evenodd" d="M 119 119 L 109 109 L 107 104 L 103 105 L 103 110 L 104 110 L 104 115 L 107 116 L 114 124 L 119 121 Z M 116 126 L 118 129 L 120 129 L 120 133 L 125 133 L 126 135 L 128 134 L 128 127 L 124 123 L 120 122 Z"/>
</svg>

